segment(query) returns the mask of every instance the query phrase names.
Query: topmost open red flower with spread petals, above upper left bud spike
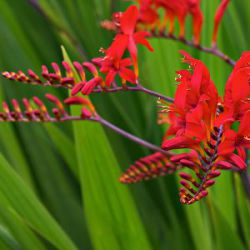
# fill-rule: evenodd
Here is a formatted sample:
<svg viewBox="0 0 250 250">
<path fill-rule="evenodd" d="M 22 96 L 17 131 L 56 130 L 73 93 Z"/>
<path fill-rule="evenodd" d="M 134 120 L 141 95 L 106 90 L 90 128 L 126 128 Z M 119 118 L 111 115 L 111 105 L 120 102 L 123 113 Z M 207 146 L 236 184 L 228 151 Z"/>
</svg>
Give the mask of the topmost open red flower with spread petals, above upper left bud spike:
<svg viewBox="0 0 250 250">
<path fill-rule="evenodd" d="M 106 51 L 107 55 L 111 58 L 122 58 L 126 49 L 129 50 L 131 58 L 133 60 L 135 74 L 138 76 L 138 62 L 137 62 L 137 46 L 136 44 L 142 44 L 149 50 L 153 51 L 153 48 L 149 42 L 145 39 L 148 36 L 148 32 L 141 31 L 135 32 L 136 24 L 139 18 L 139 11 L 136 6 L 130 6 L 120 18 L 120 34 L 117 34 L 114 42 Z"/>
</svg>

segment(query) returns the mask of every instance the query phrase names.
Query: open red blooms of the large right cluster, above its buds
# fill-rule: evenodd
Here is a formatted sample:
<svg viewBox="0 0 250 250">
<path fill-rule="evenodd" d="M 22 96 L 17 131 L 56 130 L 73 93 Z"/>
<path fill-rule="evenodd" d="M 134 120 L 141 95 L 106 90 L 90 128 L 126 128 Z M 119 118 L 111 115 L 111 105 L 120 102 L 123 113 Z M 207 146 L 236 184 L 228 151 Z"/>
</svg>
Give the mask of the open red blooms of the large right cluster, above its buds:
<svg viewBox="0 0 250 250">
<path fill-rule="evenodd" d="M 244 148 L 249 147 L 250 137 L 250 53 L 243 53 L 236 63 L 226 86 L 224 101 L 218 97 L 205 65 L 185 52 L 182 54 L 184 62 L 191 66 L 191 72 L 177 72 L 180 84 L 174 103 L 168 107 L 170 126 L 162 147 L 167 150 L 192 148 L 202 154 L 203 144 L 211 139 L 217 140 L 214 131 L 220 131 L 218 155 L 228 158 L 236 149 L 244 159 Z M 240 122 L 238 132 L 231 128 L 235 121 Z M 176 137 L 168 139 L 173 135 Z"/>
</svg>

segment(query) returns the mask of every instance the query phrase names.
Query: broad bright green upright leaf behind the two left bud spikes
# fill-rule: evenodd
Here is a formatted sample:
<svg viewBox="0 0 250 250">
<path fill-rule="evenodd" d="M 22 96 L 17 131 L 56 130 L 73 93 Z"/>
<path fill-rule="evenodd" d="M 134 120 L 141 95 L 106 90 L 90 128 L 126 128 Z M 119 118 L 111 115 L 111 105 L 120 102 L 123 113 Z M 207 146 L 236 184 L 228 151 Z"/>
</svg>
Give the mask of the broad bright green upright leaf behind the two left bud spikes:
<svg viewBox="0 0 250 250">
<path fill-rule="evenodd" d="M 72 65 L 65 49 L 63 55 Z M 94 249 L 151 249 L 133 198 L 118 182 L 118 162 L 102 126 L 84 121 L 73 126 L 84 212 Z"/>
</svg>

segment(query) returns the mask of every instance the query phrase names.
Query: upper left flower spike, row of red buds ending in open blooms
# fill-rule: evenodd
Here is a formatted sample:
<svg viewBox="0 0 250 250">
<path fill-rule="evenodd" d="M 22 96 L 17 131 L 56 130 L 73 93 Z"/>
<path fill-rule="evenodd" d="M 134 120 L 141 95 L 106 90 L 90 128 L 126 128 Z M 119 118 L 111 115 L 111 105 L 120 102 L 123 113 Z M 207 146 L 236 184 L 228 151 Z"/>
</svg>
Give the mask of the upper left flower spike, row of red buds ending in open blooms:
<svg viewBox="0 0 250 250">
<path fill-rule="evenodd" d="M 100 50 L 105 55 L 94 58 L 92 62 L 83 64 L 74 62 L 74 68 L 67 62 L 62 62 L 66 71 L 65 77 L 56 63 L 52 63 L 53 72 L 49 72 L 46 66 L 42 66 L 42 77 L 46 82 L 41 80 L 32 70 L 28 70 L 27 75 L 22 71 L 18 73 L 3 72 L 2 75 L 10 80 L 25 83 L 72 88 L 72 95 L 79 92 L 89 95 L 98 86 L 103 89 L 110 87 L 111 83 L 115 81 L 116 75 L 121 78 L 123 86 L 126 85 L 126 82 L 137 84 L 139 75 L 137 46 L 142 44 L 150 51 L 153 51 L 153 48 L 146 40 L 149 35 L 148 32 L 136 31 L 138 19 L 139 10 L 136 6 L 130 6 L 124 13 L 114 14 L 114 25 L 117 27 L 117 34 L 108 49 Z M 128 58 L 124 58 L 126 51 L 130 54 Z M 86 79 L 85 69 L 91 73 L 90 79 Z M 80 82 L 76 82 L 74 78 L 75 70 L 80 75 Z"/>
</svg>

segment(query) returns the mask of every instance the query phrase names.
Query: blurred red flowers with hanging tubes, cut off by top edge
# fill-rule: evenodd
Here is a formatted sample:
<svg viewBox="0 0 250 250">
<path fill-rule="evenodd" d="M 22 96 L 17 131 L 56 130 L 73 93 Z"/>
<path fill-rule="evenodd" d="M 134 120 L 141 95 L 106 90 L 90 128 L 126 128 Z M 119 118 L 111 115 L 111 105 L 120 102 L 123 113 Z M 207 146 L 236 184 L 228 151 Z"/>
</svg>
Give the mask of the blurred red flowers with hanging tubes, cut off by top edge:
<svg viewBox="0 0 250 250">
<path fill-rule="evenodd" d="M 213 32 L 213 43 L 217 39 L 217 33 L 222 16 L 227 8 L 230 0 L 222 0 L 216 15 Z M 169 22 L 169 35 L 174 34 L 174 21 L 178 20 L 180 25 L 179 37 L 185 37 L 185 22 L 188 15 L 193 19 L 193 36 L 194 43 L 199 44 L 200 35 L 203 24 L 203 13 L 200 9 L 200 0 L 138 0 L 140 6 L 139 23 L 146 26 L 150 30 L 158 28 L 160 32 L 165 32 L 167 23 Z M 164 19 L 161 21 L 159 9 L 165 11 Z"/>
</svg>

